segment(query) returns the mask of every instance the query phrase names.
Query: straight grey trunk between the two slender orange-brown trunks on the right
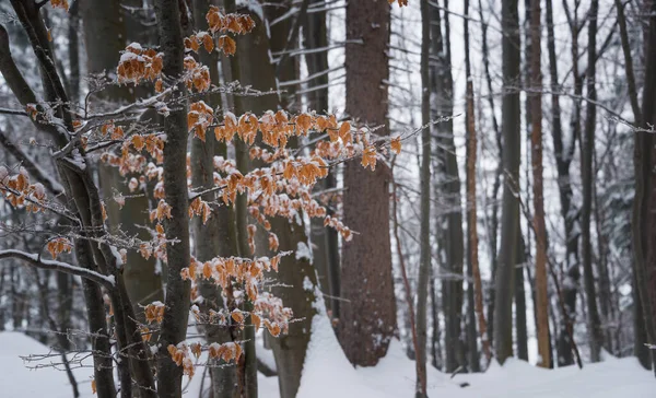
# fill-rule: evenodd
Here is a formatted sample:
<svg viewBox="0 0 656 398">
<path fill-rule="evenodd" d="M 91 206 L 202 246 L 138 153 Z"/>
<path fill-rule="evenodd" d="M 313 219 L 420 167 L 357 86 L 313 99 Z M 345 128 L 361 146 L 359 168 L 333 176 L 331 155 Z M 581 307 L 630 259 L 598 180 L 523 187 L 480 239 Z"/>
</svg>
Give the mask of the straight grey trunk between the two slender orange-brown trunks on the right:
<svg viewBox="0 0 656 398">
<path fill-rule="evenodd" d="M 519 203 L 515 192 L 519 183 L 519 16 L 517 0 L 502 2 L 503 85 L 502 133 L 504 142 L 504 188 L 502 199 L 501 245 L 495 274 L 494 351 L 504 363 L 513 355 L 513 286 L 516 264 Z M 509 288 L 509 289 L 508 289 Z"/>
</svg>

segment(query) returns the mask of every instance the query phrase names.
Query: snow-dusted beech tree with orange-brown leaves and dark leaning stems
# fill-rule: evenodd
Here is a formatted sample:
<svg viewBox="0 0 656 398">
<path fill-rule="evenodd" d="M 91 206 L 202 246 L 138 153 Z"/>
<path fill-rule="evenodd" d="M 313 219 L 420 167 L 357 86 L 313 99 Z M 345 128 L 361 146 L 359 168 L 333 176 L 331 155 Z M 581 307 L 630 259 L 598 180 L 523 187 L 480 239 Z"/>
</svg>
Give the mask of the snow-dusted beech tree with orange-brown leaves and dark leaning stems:
<svg viewBox="0 0 656 398">
<path fill-rule="evenodd" d="M 375 139 L 366 131 L 352 130 L 349 121 L 338 121 L 335 115 L 290 115 L 282 109 L 254 109 L 258 112 L 259 116 L 256 116 L 244 110 L 247 102 L 238 101 L 238 95 L 253 89 L 244 90 L 238 83 L 216 85 L 211 72 L 215 62 L 211 60 L 212 56 L 208 57 L 215 51 L 233 56 L 237 43 L 243 43 L 233 37 L 251 34 L 258 28 L 261 32 L 261 24 L 250 15 L 235 13 L 234 5 L 233 12 L 229 13 L 213 5 L 204 15 L 197 10 L 196 17 L 204 16 L 207 25 L 198 23 L 198 30 L 186 35 L 187 9 L 180 10 L 183 4 L 177 1 L 156 1 L 159 50 L 139 43 L 128 44 L 114 66 L 115 80 L 109 78 L 95 89 L 98 93 L 104 90 L 120 92 L 126 85 L 133 89 L 151 82 L 154 93 L 126 98 L 126 104 L 108 106 L 102 112 L 93 110 L 87 103 L 79 110 L 69 99 L 48 45 L 48 32 L 39 13 L 39 9 L 48 3 L 68 10 L 67 1 L 62 0 L 12 1 L 39 62 L 44 98 L 37 96 L 16 67 L 3 27 L 0 30 L 0 72 L 24 107 L 14 114 L 26 114 L 42 132 L 43 136 L 35 140 L 43 140 L 51 151 L 58 176 L 46 175 L 31 156 L 16 150 L 15 154 L 25 166 L 16 169 L 0 167 L 0 189 L 4 200 L 14 208 L 57 214 L 65 221 L 67 232 L 54 233 L 45 241 L 51 260 L 39 253 L 17 249 L 0 250 L 0 259 L 13 258 L 35 268 L 83 278 L 90 330 L 94 336 L 93 389 L 99 397 L 116 395 L 110 333 L 116 337 L 116 355 L 122 359 L 116 363 L 124 397 L 133 394 L 180 397 L 181 376 L 194 376 L 191 359 L 201 355 L 234 362 L 237 394 L 257 396 L 256 374 L 251 371 L 256 363 L 254 331 L 263 327 L 274 337 L 289 336 L 289 341 L 281 346 L 282 351 L 277 353 L 281 367 L 289 367 L 291 362 L 285 360 L 288 354 L 283 351 L 288 346 L 296 347 L 292 343 L 292 339 L 297 338 L 294 329 L 303 328 L 301 324 L 291 323 L 293 309 L 274 295 L 274 290 L 273 293 L 263 290 L 265 272 L 285 267 L 281 273 L 283 282 L 288 278 L 285 274 L 292 278 L 296 292 L 307 291 L 308 278 L 316 286 L 312 267 L 303 273 L 285 264 L 294 249 L 298 258 L 298 247 L 306 241 L 304 230 L 294 229 L 295 219 L 320 218 L 345 242 L 350 241 L 351 230 L 338 218 L 327 215 L 326 209 L 311 192 L 317 182 L 328 175 L 333 163 L 361 157 L 360 167 L 375 169 L 378 152 L 388 148 L 398 152 L 400 138 Z M 200 3 L 197 5 L 201 7 Z M 231 9 L 230 4 L 227 9 Z M 115 8 L 108 10 L 116 12 Z M 201 59 L 209 59 L 214 65 L 211 68 L 203 66 Z M 238 61 L 232 63 L 239 66 Z M 234 74 L 255 75 L 245 67 L 233 68 Z M 219 93 L 230 94 L 235 108 L 243 115 L 237 117 L 220 106 L 213 108 L 201 99 L 212 101 Z M 152 110 L 159 115 L 156 120 L 142 117 Z M 203 145 L 192 145 L 196 150 L 191 151 L 191 156 L 197 155 L 196 159 L 188 152 L 190 133 L 194 143 L 199 141 Z M 317 144 L 308 155 L 297 154 L 293 151 L 293 142 L 309 133 L 327 133 L 329 140 Z M 211 136 L 215 141 L 208 143 Z M 221 148 L 232 142 L 237 148 L 236 161 L 214 155 L 214 147 L 219 147 L 221 153 Z M 93 166 L 98 159 L 105 167 L 116 168 L 121 176 L 133 175 L 128 183 L 130 192 L 142 190 L 154 199 L 155 204 L 149 211 L 149 225 L 144 226 L 150 232 L 148 238 L 126 236 L 126 232 L 108 227 L 119 223 L 112 220 L 113 214 L 107 211 L 93 176 Z M 207 168 L 192 166 L 196 162 Z M 257 167 L 250 168 L 250 162 Z M 139 200 L 142 196 L 133 197 Z M 114 195 L 112 199 L 120 212 L 124 206 L 127 207 L 126 201 L 132 200 L 132 195 Z M 218 253 L 221 245 L 214 246 L 211 241 L 196 242 L 198 257 L 191 256 L 189 220 L 196 223 L 196 238 L 200 241 L 203 229 L 199 223 L 207 225 L 212 219 L 224 220 L 226 214 L 218 210 L 222 207 L 236 210 L 238 256 L 229 250 Z M 301 235 L 296 236 L 294 230 Z M 260 234 L 267 236 L 269 256 L 260 255 L 265 253 L 256 248 L 260 244 L 257 238 Z M 71 251 L 75 255 L 74 261 L 58 259 Z M 131 296 L 126 285 L 127 264 L 131 261 L 128 253 L 137 253 L 145 260 L 154 257 L 166 265 L 164 302 L 144 305 L 143 321 L 139 321 L 136 314 L 139 308 L 136 301 L 142 298 Z M 307 259 L 305 261 L 307 264 Z M 208 285 L 209 282 L 214 286 Z M 214 297 L 202 309 L 196 304 L 200 303 L 201 292 L 208 292 L 210 300 Z M 292 307 L 296 304 L 320 305 L 318 291 L 309 292 L 313 295 L 308 300 L 295 300 Z M 109 313 L 106 313 L 103 294 L 108 298 Z M 311 315 L 305 309 L 300 313 Z M 207 327 L 207 335 L 211 337 L 207 343 L 186 341 L 190 315 Z M 110 324 L 106 316 L 110 317 Z M 216 336 L 213 329 L 229 330 L 230 341 L 225 341 L 225 335 Z M 301 335 L 306 343 L 308 331 Z M 156 372 L 152 361 L 157 364 Z M 292 352 L 289 361 L 302 364 L 303 356 Z M 300 368 L 289 372 L 295 382 L 281 388 L 283 391 L 289 389 L 284 394 L 293 396 Z M 215 376 L 230 377 L 230 373 L 216 372 Z M 232 388 L 230 382 L 219 386 L 222 382 L 225 381 L 216 379 L 213 387 L 220 396 L 225 394 L 221 388 Z"/>
</svg>

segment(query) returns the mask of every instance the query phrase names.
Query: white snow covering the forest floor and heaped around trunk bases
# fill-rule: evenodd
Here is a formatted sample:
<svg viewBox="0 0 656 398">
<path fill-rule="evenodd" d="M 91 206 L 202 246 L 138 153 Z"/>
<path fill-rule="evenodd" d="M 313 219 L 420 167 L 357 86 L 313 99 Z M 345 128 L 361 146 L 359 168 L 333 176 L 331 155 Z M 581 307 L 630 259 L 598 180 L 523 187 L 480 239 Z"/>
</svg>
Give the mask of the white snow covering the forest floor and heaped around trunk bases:
<svg viewBox="0 0 656 398">
<path fill-rule="evenodd" d="M 375 367 L 353 368 L 343 355 L 328 319 L 316 316 L 298 398 L 391 398 L 412 397 L 414 363 L 397 341 Z M 20 356 L 47 353 L 49 349 L 19 332 L 0 333 L 0 386 L 2 397 L 72 397 L 66 373 L 55 368 L 30 370 Z M 54 362 L 58 362 L 52 358 Z M 46 362 L 48 363 L 48 362 Z M 89 367 L 74 371 L 82 397 L 92 397 Z M 198 397 L 202 371 L 187 385 L 186 397 Z M 187 381 L 185 381 L 185 384 Z M 467 383 L 469 386 L 460 387 Z M 207 383 L 206 383 L 207 386 Z M 260 397 L 279 398 L 274 377 L 259 378 Z M 509 360 L 493 364 L 483 374 L 454 378 L 429 367 L 429 396 L 449 398 L 617 398 L 656 397 L 656 379 L 633 358 L 569 366 L 555 371 L 537 368 Z"/>
</svg>

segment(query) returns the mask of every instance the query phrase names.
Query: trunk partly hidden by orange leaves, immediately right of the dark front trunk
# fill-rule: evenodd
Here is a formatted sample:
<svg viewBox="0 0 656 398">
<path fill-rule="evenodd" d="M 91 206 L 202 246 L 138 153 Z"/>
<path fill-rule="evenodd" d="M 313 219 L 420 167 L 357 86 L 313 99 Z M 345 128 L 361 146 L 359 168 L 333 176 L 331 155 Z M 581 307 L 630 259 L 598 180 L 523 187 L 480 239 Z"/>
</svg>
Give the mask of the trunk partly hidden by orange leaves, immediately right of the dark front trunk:
<svg viewBox="0 0 656 398">
<path fill-rule="evenodd" d="M 211 3 L 210 0 L 194 0 L 191 11 L 196 30 L 207 31 L 206 13 Z M 200 62 L 209 68 L 212 82 L 219 82 L 218 52 L 208 54 L 201 50 L 198 57 Z M 209 94 L 202 99 L 214 109 L 222 105 L 220 94 Z M 195 189 L 203 190 L 214 186 L 214 155 L 227 157 L 225 143 L 218 142 L 214 134 L 207 134 L 204 142 L 198 138 L 191 140 L 191 186 Z M 213 203 L 216 195 L 207 194 L 201 199 Z M 197 260 L 204 262 L 216 256 L 231 257 L 237 254 L 232 212 L 232 208 L 226 206 L 212 206 L 212 215 L 207 223 L 203 224 L 199 216 L 191 220 L 194 255 Z M 203 297 L 201 311 L 208 313 L 210 309 L 223 309 L 225 302 L 221 288 L 211 280 L 203 279 L 199 283 L 200 294 Z M 230 330 L 222 325 L 206 325 L 204 337 L 208 344 L 232 341 Z M 235 367 L 226 366 L 219 360 L 215 361 L 214 366 L 210 367 L 212 396 L 214 398 L 233 398 L 237 391 Z"/>
</svg>

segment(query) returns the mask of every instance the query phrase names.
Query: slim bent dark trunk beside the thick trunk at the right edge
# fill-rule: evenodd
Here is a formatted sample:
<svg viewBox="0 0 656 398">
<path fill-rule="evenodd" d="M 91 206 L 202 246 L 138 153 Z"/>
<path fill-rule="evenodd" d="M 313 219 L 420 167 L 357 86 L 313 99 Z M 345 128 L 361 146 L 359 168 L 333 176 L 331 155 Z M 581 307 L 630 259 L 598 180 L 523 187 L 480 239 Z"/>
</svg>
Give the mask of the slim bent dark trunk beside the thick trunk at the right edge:
<svg viewBox="0 0 656 398">
<path fill-rule="evenodd" d="M 629 32 L 626 28 L 626 16 L 624 14 L 624 5 L 622 4 L 622 2 L 620 0 L 616 0 L 616 8 L 618 10 L 618 25 L 620 26 L 620 38 L 622 40 L 622 50 L 624 52 L 624 69 L 626 70 L 626 83 L 629 85 L 629 99 L 631 101 L 631 108 L 633 109 L 633 119 L 634 119 L 634 124 L 635 126 L 642 126 L 642 120 L 643 120 L 643 116 L 642 116 L 642 110 L 640 108 L 640 104 L 639 104 L 639 98 L 637 98 L 637 87 L 635 84 L 635 73 L 633 70 L 633 57 L 631 55 L 631 45 L 629 43 Z M 634 144 L 639 144 L 637 142 L 637 137 L 636 137 L 636 141 Z M 637 150 L 636 150 L 637 151 Z M 637 154 L 637 152 L 636 152 Z M 641 175 L 637 174 L 637 168 L 641 165 L 641 163 L 637 161 L 635 162 L 635 179 L 636 179 L 636 192 L 635 192 L 635 198 L 634 198 L 634 214 L 636 214 L 636 209 L 639 209 L 637 204 L 640 202 L 640 200 L 642 200 L 642 198 L 639 197 L 639 188 L 641 187 Z M 636 229 L 637 225 L 634 225 L 633 232 L 637 232 L 639 230 Z M 636 236 L 633 236 L 633 242 L 634 242 L 634 260 L 631 264 L 631 271 L 633 273 L 632 278 L 631 278 L 631 294 L 633 297 L 633 352 L 635 354 L 635 356 L 637 356 L 640 363 L 645 367 L 645 368 L 651 368 L 652 367 L 652 360 L 651 360 L 651 350 L 647 348 L 646 342 L 647 342 L 647 330 L 646 330 L 646 325 L 645 325 L 645 316 L 643 315 L 643 303 L 641 301 L 641 294 L 640 294 L 640 289 L 641 289 L 641 282 L 639 282 L 637 280 L 637 274 L 639 274 L 639 270 L 637 270 L 637 266 L 639 266 L 639 258 L 641 259 L 641 265 L 642 261 L 644 260 L 644 258 L 642 257 L 643 254 L 639 253 L 637 250 L 641 249 L 641 246 L 639 244 L 636 244 L 635 241 Z"/>
</svg>

